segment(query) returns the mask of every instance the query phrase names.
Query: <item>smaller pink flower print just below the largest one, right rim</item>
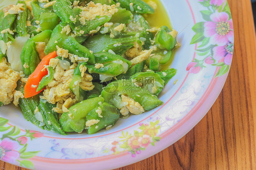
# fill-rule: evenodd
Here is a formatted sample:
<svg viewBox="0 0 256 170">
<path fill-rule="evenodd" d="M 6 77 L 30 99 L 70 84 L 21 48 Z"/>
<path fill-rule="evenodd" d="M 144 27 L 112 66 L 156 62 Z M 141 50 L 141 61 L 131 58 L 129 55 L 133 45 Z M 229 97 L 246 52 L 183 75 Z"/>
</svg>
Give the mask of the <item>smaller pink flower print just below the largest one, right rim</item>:
<svg viewBox="0 0 256 170">
<path fill-rule="evenodd" d="M 224 46 L 214 47 L 213 49 L 213 58 L 217 61 L 224 59 L 224 63 L 226 65 L 231 64 L 233 52 L 234 52 L 234 44 L 232 42 L 228 42 Z"/>
</svg>

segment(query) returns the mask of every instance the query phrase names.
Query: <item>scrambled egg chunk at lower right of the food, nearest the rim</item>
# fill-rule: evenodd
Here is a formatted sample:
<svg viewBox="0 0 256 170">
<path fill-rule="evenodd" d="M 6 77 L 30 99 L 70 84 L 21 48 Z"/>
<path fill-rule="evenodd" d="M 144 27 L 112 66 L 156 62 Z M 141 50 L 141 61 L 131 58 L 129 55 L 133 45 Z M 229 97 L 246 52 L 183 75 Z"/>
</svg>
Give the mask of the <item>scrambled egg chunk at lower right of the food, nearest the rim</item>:
<svg viewBox="0 0 256 170">
<path fill-rule="evenodd" d="M 120 113 L 124 116 L 128 115 L 129 112 L 131 112 L 134 115 L 139 115 L 145 112 L 144 108 L 136 101 L 134 101 L 132 98 L 121 95 L 123 107 L 120 110 Z"/>
</svg>

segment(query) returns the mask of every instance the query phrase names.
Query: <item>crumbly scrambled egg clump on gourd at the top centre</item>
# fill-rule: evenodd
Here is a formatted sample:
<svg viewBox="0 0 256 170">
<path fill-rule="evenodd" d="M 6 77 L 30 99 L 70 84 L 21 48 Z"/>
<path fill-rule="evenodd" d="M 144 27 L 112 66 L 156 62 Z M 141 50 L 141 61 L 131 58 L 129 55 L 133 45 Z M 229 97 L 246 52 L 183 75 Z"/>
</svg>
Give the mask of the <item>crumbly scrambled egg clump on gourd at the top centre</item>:
<svg viewBox="0 0 256 170">
<path fill-rule="evenodd" d="M 79 19 L 82 25 L 85 25 L 86 20 L 94 20 L 96 16 L 108 15 L 112 16 L 116 12 L 118 12 L 118 5 L 102 5 L 100 3 L 95 4 L 94 2 L 89 2 L 87 6 L 82 8 L 82 12 L 80 12 Z"/>
</svg>

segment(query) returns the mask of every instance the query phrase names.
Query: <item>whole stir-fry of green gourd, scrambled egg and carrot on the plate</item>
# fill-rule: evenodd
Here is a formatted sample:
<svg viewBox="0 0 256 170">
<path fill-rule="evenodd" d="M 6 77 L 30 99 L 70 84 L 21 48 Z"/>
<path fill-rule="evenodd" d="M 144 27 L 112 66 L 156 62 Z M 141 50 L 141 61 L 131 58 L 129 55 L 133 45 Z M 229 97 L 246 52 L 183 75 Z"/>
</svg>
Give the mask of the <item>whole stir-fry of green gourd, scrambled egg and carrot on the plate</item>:
<svg viewBox="0 0 256 170">
<path fill-rule="evenodd" d="M 66 135 L 108 130 L 162 105 L 158 96 L 176 74 L 168 65 L 180 44 L 170 26 L 150 26 L 158 4 L 19 0 L 5 7 L 0 106 L 20 106 L 26 120 Z"/>
</svg>

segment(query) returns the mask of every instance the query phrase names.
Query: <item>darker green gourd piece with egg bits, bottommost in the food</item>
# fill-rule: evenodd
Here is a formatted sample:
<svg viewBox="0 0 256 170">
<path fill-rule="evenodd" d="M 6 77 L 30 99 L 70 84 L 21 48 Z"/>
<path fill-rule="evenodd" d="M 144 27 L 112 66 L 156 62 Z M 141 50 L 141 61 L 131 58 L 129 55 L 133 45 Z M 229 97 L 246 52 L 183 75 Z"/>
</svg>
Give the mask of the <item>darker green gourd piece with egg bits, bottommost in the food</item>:
<svg viewBox="0 0 256 170">
<path fill-rule="evenodd" d="M 101 117 L 97 113 L 97 110 L 100 109 Z M 108 127 L 109 125 L 115 125 L 116 122 L 119 120 L 120 115 L 118 108 L 113 105 L 109 105 L 108 103 L 104 102 L 99 107 L 96 107 L 92 111 L 90 111 L 86 116 L 86 121 L 88 120 L 99 120 L 97 124 L 91 125 L 87 127 L 87 134 L 91 135 L 96 133 L 103 128 Z"/>
</svg>

